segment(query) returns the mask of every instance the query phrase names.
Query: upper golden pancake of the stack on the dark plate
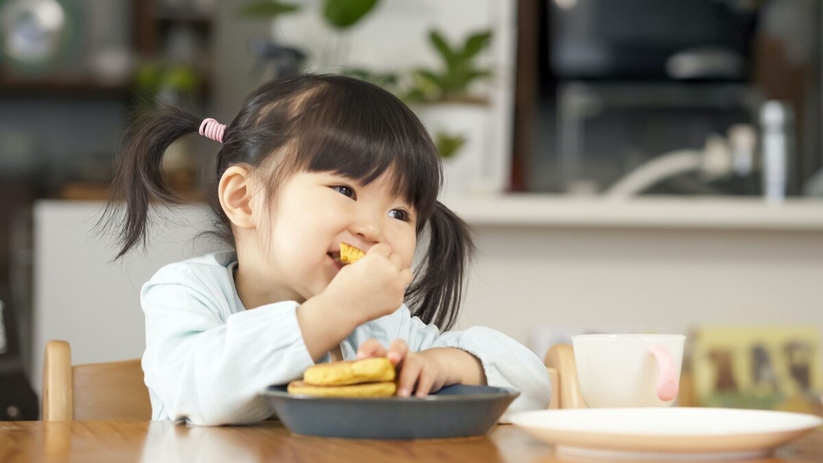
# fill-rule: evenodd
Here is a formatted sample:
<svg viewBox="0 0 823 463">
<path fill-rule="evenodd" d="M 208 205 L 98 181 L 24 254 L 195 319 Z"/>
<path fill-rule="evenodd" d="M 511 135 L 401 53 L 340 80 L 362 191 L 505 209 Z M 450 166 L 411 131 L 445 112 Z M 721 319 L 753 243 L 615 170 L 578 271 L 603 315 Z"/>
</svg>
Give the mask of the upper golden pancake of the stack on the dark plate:
<svg viewBox="0 0 823 463">
<path fill-rule="evenodd" d="M 319 363 L 303 373 L 303 381 L 310 386 L 346 386 L 393 380 L 394 365 L 385 357 Z"/>
</svg>

